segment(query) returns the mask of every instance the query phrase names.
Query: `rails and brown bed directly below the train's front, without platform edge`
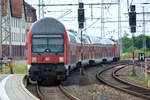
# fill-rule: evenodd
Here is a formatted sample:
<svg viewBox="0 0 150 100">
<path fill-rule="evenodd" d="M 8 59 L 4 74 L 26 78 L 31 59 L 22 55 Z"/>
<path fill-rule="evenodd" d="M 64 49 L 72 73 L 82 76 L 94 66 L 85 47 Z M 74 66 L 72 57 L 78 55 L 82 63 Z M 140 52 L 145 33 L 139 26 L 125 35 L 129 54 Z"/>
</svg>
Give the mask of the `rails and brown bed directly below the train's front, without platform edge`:
<svg viewBox="0 0 150 100">
<path fill-rule="evenodd" d="M 52 87 L 36 85 L 36 92 L 40 100 L 80 100 L 69 93 L 62 85 Z"/>
</svg>

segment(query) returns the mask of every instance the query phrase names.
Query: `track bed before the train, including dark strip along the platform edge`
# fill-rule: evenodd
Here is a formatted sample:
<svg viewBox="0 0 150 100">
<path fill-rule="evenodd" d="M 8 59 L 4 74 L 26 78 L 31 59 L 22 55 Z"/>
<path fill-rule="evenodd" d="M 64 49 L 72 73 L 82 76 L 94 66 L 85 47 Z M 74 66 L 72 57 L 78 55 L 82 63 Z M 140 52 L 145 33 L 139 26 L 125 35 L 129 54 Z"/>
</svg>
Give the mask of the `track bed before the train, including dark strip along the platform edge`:
<svg viewBox="0 0 150 100">
<path fill-rule="evenodd" d="M 23 84 L 40 100 L 80 100 L 67 91 L 61 84 L 59 86 L 28 85 L 27 76 L 24 77 Z"/>
</svg>

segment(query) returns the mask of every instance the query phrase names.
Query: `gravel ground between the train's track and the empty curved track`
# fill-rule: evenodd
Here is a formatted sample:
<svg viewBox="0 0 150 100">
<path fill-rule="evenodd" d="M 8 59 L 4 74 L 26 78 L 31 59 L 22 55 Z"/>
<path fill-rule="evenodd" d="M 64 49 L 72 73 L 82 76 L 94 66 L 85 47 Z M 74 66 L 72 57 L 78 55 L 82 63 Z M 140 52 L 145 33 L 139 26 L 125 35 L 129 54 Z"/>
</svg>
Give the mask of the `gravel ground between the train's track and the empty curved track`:
<svg viewBox="0 0 150 100">
<path fill-rule="evenodd" d="M 144 100 L 100 83 L 95 76 L 102 69 L 104 67 L 87 68 L 84 76 L 77 70 L 63 84 L 81 100 Z"/>
</svg>

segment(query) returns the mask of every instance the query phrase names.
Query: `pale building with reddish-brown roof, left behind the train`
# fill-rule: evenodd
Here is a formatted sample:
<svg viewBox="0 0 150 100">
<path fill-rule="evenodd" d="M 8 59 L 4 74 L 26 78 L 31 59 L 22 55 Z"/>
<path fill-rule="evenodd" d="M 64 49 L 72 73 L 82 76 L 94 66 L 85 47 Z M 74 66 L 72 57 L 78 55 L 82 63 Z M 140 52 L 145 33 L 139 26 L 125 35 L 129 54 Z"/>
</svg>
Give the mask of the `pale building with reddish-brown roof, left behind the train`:
<svg viewBox="0 0 150 100">
<path fill-rule="evenodd" d="M 2 56 L 26 58 L 27 32 L 36 10 L 24 0 L 2 0 Z"/>
</svg>

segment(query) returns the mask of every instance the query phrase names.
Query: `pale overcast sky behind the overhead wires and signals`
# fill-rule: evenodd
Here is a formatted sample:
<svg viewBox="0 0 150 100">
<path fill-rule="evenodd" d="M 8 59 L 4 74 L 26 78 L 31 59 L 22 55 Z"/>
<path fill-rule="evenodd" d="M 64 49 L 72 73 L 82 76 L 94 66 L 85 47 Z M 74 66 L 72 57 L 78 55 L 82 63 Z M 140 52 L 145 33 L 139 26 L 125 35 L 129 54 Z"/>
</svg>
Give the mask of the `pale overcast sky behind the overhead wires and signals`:
<svg viewBox="0 0 150 100">
<path fill-rule="evenodd" d="M 33 5 L 37 9 L 37 17 L 38 17 L 38 7 L 34 4 L 38 4 L 38 0 L 25 0 L 29 4 Z M 42 0 L 41 0 L 42 1 Z M 118 0 L 104 0 L 104 3 L 117 3 Z M 140 3 L 150 3 L 149 0 L 129 0 L 129 3 L 136 5 L 136 11 L 142 12 L 142 6 Z M 101 3 L 101 0 L 82 0 L 85 4 L 87 3 Z M 45 4 L 75 4 L 78 3 L 78 0 L 44 0 Z M 149 5 L 145 6 L 145 12 L 148 12 Z M 54 17 L 58 20 L 60 20 L 67 29 L 73 29 L 75 31 L 78 31 L 78 21 L 77 21 L 77 9 L 78 6 L 61 6 L 61 7 L 44 7 L 45 10 L 45 17 Z M 101 36 L 101 20 L 97 20 L 94 18 L 100 18 L 101 17 L 101 5 L 95 5 L 95 6 L 84 6 L 85 9 L 85 17 L 87 18 L 85 27 L 89 27 L 91 24 L 93 24 L 91 27 L 89 27 L 84 33 L 94 36 Z M 128 21 L 128 14 L 127 14 L 127 0 L 121 0 L 121 20 L 122 21 Z M 118 20 L 118 5 L 105 5 L 104 6 L 104 18 L 105 21 L 117 21 Z M 143 15 L 138 14 L 137 20 L 142 20 Z M 149 14 L 145 15 L 145 20 L 150 19 Z M 95 24 L 94 24 L 95 23 Z M 149 29 L 150 22 L 146 21 L 146 34 L 149 35 L 150 29 Z M 124 33 L 128 33 L 131 35 L 129 30 L 129 24 L 128 22 L 121 22 L 121 33 L 122 36 Z M 143 21 L 137 22 L 137 32 L 135 35 L 142 34 L 143 30 Z M 109 22 L 104 24 L 104 36 L 106 38 L 113 37 L 114 39 L 118 38 L 118 23 L 117 22 Z"/>
</svg>

